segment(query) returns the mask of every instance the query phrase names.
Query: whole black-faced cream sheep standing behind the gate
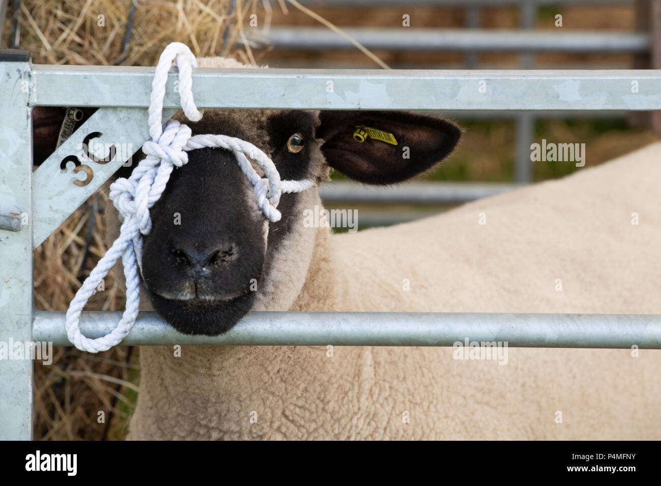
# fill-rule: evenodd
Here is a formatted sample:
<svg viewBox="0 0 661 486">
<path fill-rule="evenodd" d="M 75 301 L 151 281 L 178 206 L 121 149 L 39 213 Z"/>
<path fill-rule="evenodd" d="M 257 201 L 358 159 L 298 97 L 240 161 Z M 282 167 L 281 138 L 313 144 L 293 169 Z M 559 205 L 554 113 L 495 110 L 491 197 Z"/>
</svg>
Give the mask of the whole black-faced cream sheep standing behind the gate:
<svg viewBox="0 0 661 486">
<path fill-rule="evenodd" d="M 401 112 L 207 110 L 189 125 L 258 145 L 283 179 L 321 182 L 333 167 L 368 184 L 430 169 L 461 135 Z M 381 140 L 353 140 L 356 126 L 393 134 L 410 159 Z M 264 222 L 232 155 L 192 151 L 151 210 L 141 309 L 208 335 L 266 310 L 658 314 L 660 149 L 355 234 L 302 223 L 306 209 L 323 208 L 323 187 L 282 196 L 282 220 Z M 106 220 L 112 241 L 110 205 Z M 141 346 L 129 438 L 661 437 L 661 352 L 508 351 L 500 366 L 457 360 L 453 348 L 196 346 L 175 357 Z"/>
</svg>

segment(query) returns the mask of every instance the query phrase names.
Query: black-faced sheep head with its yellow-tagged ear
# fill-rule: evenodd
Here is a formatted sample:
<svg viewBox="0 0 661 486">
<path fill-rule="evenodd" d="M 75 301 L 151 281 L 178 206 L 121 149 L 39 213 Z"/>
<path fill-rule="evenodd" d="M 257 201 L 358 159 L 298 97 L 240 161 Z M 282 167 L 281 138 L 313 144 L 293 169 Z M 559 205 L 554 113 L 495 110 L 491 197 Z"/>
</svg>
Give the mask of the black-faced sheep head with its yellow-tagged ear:
<svg viewBox="0 0 661 486">
<path fill-rule="evenodd" d="M 367 184 L 430 169 L 461 136 L 451 122 L 403 112 L 206 110 L 188 125 L 193 134 L 253 143 L 284 180 L 321 182 L 332 167 Z M 233 153 L 207 148 L 188 157 L 151 209 L 145 235 L 143 286 L 155 311 L 182 333 L 217 335 L 251 309 L 287 310 L 319 231 L 303 224 L 305 208 L 319 204 L 316 188 L 282 194 L 282 219 L 273 223 Z"/>
</svg>

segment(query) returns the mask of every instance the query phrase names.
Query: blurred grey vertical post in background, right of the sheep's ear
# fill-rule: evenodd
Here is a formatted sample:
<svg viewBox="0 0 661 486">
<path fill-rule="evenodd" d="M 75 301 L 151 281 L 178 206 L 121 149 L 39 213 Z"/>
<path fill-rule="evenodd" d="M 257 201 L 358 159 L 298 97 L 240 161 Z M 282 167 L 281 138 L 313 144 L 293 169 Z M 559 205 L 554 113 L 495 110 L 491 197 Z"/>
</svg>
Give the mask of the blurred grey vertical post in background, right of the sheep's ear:
<svg viewBox="0 0 661 486">
<path fill-rule="evenodd" d="M 533 2 L 524 1 L 520 5 L 521 27 L 531 29 L 535 26 L 537 19 L 537 6 Z M 533 65 L 533 54 L 521 55 L 521 68 L 531 69 Z M 532 167 L 530 166 L 530 140 L 533 136 L 535 116 L 530 112 L 521 112 L 516 118 L 516 181 L 530 182 L 532 179 Z"/>
</svg>

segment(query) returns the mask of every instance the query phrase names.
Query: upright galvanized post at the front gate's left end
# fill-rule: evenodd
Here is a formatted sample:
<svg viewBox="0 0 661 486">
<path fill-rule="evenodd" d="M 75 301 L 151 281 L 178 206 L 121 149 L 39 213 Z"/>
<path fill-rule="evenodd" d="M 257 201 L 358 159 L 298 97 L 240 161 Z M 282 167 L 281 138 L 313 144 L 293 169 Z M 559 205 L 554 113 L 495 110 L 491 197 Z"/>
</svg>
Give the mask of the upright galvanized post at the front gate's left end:
<svg viewBox="0 0 661 486">
<path fill-rule="evenodd" d="M 32 438 L 32 360 L 14 354 L 32 340 L 32 67 L 27 51 L 0 51 L 0 439 Z"/>
</svg>

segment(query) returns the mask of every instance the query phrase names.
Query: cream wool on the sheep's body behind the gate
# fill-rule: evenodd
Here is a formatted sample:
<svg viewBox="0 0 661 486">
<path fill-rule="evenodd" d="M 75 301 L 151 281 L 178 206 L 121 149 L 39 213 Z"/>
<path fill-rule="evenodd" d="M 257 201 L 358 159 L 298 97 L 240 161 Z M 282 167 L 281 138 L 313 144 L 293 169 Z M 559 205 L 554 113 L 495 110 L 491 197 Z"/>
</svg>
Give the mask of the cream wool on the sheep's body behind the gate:
<svg viewBox="0 0 661 486">
<path fill-rule="evenodd" d="M 255 309 L 661 314 L 660 153 L 655 143 L 395 227 L 307 229 L 314 245 L 281 255 L 293 268 L 282 298 Z M 299 214 L 321 204 L 305 194 Z M 184 346 L 175 358 L 141 346 L 130 438 L 661 438 L 661 351 L 508 353 L 500 366 L 452 348 Z"/>
</svg>

